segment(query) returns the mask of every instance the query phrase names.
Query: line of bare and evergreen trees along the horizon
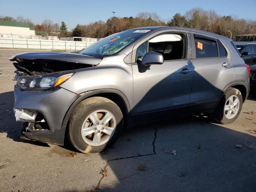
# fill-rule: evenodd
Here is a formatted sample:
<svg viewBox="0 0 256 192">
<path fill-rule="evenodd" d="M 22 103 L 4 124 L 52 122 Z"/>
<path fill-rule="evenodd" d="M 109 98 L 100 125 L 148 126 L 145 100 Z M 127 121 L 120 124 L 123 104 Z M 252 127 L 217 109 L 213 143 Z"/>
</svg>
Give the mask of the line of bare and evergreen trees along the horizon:
<svg viewBox="0 0 256 192">
<path fill-rule="evenodd" d="M 110 34 L 123 30 L 145 27 L 145 26 L 180 26 L 206 30 L 234 40 L 235 35 L 256 34 L 256 20 L 246 20 L 236 16 L 220 16 L 214 10 L 203 10 L 193 8 L 185 14 L 176 13 L 170 20 L 164 22 L 156 13 L 141 12 L 136 17 L 111 17 L 108 20 L 92 22 L 90 24 L 77 24 L 76 27 L 68 31 L 65 22 L 60 25 L 45 19 L 42 24 L 34 24 L 30 19 L 22 16 L 12 18 L 0 16 L 0 20 L 10 20 L 18 22 L 29 22 L 36 31 L 44 31 L 48 36 L 78 36 L 90 38 L 104 38 Z M 114 29 L 113 29 L 114 22 Z"/>
</svg>

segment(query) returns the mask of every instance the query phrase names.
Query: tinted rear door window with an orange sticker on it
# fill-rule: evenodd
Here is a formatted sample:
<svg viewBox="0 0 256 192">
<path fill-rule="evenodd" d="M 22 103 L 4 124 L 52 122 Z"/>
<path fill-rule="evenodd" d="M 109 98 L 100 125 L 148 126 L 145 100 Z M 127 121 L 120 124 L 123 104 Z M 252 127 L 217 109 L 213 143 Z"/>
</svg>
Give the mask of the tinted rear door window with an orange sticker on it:
<svg viewBox="0 0 256 192">
<path fill-rule="evenodd" d="M 194 37 L 196 58 L 218 57 L 217 42 L 206 38 Z"/>
</svg>

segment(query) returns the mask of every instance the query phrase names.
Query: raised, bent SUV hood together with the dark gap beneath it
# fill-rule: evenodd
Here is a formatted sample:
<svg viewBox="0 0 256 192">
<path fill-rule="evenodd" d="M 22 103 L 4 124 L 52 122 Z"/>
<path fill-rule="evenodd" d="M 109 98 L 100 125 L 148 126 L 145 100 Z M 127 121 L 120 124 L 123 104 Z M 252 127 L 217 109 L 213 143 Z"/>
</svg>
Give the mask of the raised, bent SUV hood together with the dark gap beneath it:
<svg viewBox="0 0 256 192">
<path fill-rule="evenodd" d="M 70 52 L 27 52 L 10 58 L 21 75 L 43 75 L 97 66 L 102 59 Z"/>
</svg>

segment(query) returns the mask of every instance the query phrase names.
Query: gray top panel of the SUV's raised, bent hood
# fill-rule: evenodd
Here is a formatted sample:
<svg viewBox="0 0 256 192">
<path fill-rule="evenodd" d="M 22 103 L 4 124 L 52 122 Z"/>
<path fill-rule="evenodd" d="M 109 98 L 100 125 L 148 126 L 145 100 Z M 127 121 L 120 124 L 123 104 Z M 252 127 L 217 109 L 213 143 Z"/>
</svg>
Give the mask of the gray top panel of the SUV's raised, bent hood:
<svg viewBox="0 0 256 192">
<path fill-rule="evenodd" d="M 73 62 L 73 63 L 82 63 L 82 64 L 90 64 L 97 65 L 101 62 L 102 59 L 93 58 L 90 56 L 70 53 L 70 52 L 27 52 L 21 53 L 14 56 L 14 58 L 10 58 L 11 61 L 15 60 L 59 60 L 64 62 Z"/>
</svg>

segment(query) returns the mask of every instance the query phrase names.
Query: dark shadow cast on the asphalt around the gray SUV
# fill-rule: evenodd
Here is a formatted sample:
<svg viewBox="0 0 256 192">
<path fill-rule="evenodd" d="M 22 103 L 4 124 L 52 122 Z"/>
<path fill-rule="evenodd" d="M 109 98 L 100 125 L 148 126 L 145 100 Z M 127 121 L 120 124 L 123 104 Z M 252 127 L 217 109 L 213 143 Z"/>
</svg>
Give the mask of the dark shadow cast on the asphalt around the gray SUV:
<svg viewBox="0 0 256 192">
<path fill-rule="evenodd" d="M 255 101 L 256 96 L 250 95 L 248 100 Z M 15 122 L 12 112 L 13 92 L 0 94 L 0 103 L 1 132 L 7 132 L 7 137 L 16 142 L 48 146 L 18 138 L 20 123 Z M 256 137 L 238 131 L 236 126 L 213 124 L 204 116 L 135 126 L 124 131 L 114 146 L 101 154 L 106 161 L 102 171 L 108 170 L 108 177 L 101 178 L 94 188 L 147 192 L 255 191 Z M 237 148 L 237 144 L 242 147 Z M 88 190 L 65 192 L 80 191 Z"/>
</svg>

